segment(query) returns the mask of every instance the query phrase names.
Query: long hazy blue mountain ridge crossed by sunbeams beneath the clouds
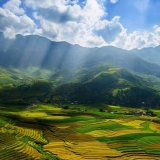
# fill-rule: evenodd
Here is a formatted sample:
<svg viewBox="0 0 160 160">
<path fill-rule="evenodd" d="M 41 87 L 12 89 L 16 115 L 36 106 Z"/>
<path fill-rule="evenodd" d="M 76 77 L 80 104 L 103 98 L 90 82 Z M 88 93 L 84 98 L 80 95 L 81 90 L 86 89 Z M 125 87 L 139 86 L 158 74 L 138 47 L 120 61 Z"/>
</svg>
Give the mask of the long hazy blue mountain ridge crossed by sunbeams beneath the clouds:
<svg viewBox="0 0 160 160">
<path fill-rule="evenodd" d="M 112 46 L 85 48 L 67 42 L 53 42 L 44 37 L 17 35 L 9 40 L 0 34 L 0 65 L 26 69 L 28 66 L 61 71 L 110 64 L 137 73 L 160 77 L 160 66 L 142 60 L 131 51 Z"/>
</svg>

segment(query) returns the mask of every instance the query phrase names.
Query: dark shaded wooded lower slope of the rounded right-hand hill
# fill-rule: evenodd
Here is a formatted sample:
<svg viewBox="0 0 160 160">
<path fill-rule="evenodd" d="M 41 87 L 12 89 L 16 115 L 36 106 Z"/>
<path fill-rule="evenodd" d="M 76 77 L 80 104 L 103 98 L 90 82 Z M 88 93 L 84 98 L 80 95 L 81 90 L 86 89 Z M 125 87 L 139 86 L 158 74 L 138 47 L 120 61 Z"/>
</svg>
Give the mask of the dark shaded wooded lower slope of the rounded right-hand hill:
<svg viewBox="0 0 160 160">
<path fill-rule="evenodd" d="M 79 103 L 106 103 L 131 107 L 160 106 L 160 96 L 156 91 L 140 87 L 119 90 L 112 94 L 113 88 L 90 84 L 65 84 L 58 87 L 52 95 L 52 101 L 78 101 Z M 106 92 L 105 92 L 106 91 Z"/>
</svg>

